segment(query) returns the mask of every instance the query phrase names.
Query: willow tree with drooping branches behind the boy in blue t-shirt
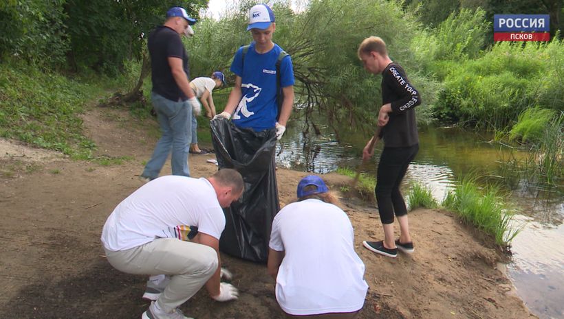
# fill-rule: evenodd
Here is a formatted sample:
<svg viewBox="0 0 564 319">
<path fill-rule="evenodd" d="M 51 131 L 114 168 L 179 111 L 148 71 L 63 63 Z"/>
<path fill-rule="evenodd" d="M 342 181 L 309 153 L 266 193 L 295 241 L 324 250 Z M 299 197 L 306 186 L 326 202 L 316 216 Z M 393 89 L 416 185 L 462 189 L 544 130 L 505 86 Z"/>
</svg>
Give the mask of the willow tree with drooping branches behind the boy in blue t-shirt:
<svg viewBox="0 0 564 319">
<path fill-rule="evenodd" d="M 221 21 L 208 20 L 197 26 L 195 37 L 188 41 L 196 54 L 191 60 L 193 67 L 228 71 L 237 48 L 252 40 L 246 32 L 246 12 L 253 3 L 241 4 L 239 11 Z M 380 77 L 369 75 L 356 54 L 368 36 L 384 38 L 393 60 L 400 62 L 411 82 L 424 91 L 424 102 L 433 100 L 433 82 L 418 72 L 410 50 L 419 26 L 395 1 L 314 0 L 300 12 L 294 12 L 288 3 L 276 2 L 273 10 L 274 42 L 294 62 L 294 110 L 306 117 L 304 130 L 316 130 L 315 114 L 326 117 L 336 132 L 347 130 L 342 126 L 337 130 L 338 123 L 347 123 L 353 130 L 374 127 L 382 100 Z"/>
</svg>

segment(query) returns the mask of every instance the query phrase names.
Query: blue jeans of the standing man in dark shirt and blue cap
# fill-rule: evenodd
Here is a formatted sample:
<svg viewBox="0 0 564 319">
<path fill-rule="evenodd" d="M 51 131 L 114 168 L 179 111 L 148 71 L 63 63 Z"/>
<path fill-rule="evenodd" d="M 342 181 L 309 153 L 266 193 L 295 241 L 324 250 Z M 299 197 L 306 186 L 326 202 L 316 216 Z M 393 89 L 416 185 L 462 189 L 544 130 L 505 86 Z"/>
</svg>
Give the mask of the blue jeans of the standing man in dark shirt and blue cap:
<svg viewBox="0 0 564 319">
<path fill-rule="evenodd" d="M 162 137 L 157 142 L 153 156 L 145 169 L 143 177 L 151 180 L 159 176 L 166 157 L 172 149 L 171 166 L 173 175 L 190 176 L 188 168 L 188 141 L 191 140 L 192 108 L 187 102 L 175 102 L 157 93 L 151 93 L 151 102 L 157 112 Z"/>
</svg>

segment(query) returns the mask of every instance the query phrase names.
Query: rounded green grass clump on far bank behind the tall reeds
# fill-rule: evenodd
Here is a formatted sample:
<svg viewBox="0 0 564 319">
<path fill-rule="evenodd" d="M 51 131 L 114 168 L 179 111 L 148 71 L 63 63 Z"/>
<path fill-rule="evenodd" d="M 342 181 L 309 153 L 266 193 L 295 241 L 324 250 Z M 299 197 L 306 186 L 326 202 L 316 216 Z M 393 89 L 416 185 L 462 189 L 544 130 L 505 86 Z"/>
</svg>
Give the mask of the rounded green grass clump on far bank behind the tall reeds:
<svg viewBox="0 0 564 319">
<path fill-rule="evenodd" d="M 519 121 L 510 131 L 510 139 L 529 142 L 539 141 L 555 114 L 554 110 L 547 108 L 528 108 L 519 115 Z"/>
</svg>

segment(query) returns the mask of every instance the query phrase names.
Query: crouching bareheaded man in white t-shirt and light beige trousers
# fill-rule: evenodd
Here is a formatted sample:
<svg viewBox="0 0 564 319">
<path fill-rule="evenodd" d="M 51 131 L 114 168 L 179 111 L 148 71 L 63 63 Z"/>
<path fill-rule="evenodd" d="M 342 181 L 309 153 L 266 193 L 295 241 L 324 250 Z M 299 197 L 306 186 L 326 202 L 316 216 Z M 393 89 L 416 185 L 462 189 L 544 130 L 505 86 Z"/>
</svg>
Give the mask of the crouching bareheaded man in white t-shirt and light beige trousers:
<svg viewBox="0 0 564 319">
<path fill-rule="evenodd" d="M 178 307 L 204 284 L 217 301 L 237 299 L 237 289 L 220 282 L 219 237 L 226 222 L 221 208 L 239 199 L 243 189 L 234 169 L 210 178 L 162 176 L 109 215 L 101 237 L 109 263 L 129 274 L 170 276 L 143 319 L 188 318 Z M 195 227 L 196 237 L 186 241 Z"/>
</svg>

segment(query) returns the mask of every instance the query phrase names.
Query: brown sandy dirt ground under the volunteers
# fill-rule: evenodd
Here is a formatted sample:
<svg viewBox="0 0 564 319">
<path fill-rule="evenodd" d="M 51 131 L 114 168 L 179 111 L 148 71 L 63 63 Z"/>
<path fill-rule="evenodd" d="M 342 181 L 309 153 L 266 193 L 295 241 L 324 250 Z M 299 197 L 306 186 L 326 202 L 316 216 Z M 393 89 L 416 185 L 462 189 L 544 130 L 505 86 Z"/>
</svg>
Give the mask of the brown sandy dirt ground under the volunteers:
<svg viewBox="0 0 564 319">
<path fill-rule="evenodd" d="M 100 248 L 100 231 L 116 204 L 142 184 L 136 175 L 151 156 L 157 126 L 107 108 L 93 108 L 84 119 L 98 155 L 126 160 L 76 162 L 0 140 L 1 318 L 140 318 L 147 308 L 140 298 L 146 279 L 111 268 Z M 191 156 L 194 177 L 215 172 L 208 158 L 213 154 Z M 167 163 L 162 173 L 170 172 Z M 277 174 L 284 204 L 305 173 L 279 169 Z M 349 181 L 335 174 L 324 178 L 329 185 Z M 376 210 L 354 199 L 343 198 L 343 204 L 370 285 L 359 318 L 535 318 L 495 268 L 495 251 L 450 213 L 411 213 L 415 254 L 389 259 L 360 245 L 382 237 Z M 263 265 L 222 259 L 235 274 L 232 283 L 241 297 L 217 303 L 201 291 L 182 306 L 188 316 L 283 318 Z"/>
</svg>

